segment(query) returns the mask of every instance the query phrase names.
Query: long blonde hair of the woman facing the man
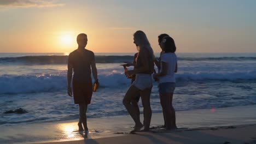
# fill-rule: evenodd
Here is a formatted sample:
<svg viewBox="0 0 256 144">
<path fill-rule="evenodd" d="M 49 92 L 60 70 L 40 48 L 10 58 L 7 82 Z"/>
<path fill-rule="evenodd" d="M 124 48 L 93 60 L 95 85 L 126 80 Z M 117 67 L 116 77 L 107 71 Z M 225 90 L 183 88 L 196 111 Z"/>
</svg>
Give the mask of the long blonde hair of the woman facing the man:
<svg viewBox="0 0 256 144">
<path fill-rule="evenodd" d="M 154 59 L 154 51 L 148 41 L 147 35 L 143 31 L 136 31 L 133 34 L 133 37 L 137 40 L 138 46 L 137 49 L 138 51 L 141 49 L 147 49 L 149 52 L 149 55 Z"/>
</svg>

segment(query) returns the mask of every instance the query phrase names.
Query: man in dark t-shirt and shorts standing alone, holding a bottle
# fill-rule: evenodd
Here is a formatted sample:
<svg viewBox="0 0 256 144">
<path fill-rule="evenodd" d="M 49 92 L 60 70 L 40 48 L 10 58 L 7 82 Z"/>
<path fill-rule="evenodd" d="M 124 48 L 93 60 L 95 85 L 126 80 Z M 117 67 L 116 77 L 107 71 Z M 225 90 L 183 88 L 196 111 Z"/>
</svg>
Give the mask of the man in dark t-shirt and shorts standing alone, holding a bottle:
<svg viewBox="0 0 256 144">
<path fill-rule="evenodd" d="M 91 71 L 95 83 L 98 83 L 94 52 L 85 49 L 87 41 L 86 34 L 81 33 L 77 36 L 78 49 L 69 54 L 67 71 L 67 93 L 71 97 L 71 80 L 74 71 L 72 88 L 74 104 L 79 104 L 78 127 L 79 131 L 84 130 L 86 134 L 88 133 L 86 111 L 88 104 L 91 103 L 92 96 Z"/>
</svg>

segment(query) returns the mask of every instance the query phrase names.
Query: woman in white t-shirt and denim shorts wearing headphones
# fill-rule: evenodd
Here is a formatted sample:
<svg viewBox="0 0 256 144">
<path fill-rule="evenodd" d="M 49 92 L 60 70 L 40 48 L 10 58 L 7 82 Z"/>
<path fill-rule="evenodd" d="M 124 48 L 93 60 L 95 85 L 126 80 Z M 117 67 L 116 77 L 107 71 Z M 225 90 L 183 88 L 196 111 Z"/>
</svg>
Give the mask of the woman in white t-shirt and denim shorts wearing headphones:
<svg viewBox="0 0 256 144">
<path fill-rule="evenodd" d="M 161 42 L 161 49 L 164 53 L 161 55 L 161 67 L 154 78 L 159 79 L 159 95 L 166 122 L 166 129 L 176 129 L 175 110 L 172 106 L 172 97 L 175 89 L 175 76 L 177 73 L 177 56 L 174 53 L 176 46 L 171 37 L 165 37 Z"/>
</svg>

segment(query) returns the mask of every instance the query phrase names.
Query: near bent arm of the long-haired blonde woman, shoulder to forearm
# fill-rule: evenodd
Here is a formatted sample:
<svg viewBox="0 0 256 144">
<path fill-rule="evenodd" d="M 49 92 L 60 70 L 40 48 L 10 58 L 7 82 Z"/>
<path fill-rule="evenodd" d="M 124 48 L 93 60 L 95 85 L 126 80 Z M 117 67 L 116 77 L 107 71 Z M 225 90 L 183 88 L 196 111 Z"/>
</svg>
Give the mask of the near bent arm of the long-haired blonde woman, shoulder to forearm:
<svg viewBox="0 0 256 144">
<path fill-rule="evenodd" d="M 148 57 L 147 57 L 148 52 L 146 50 L 141 50 L 138 54 L 140 61 L 142 63 L 142 65 L 140 65 L 139 67 L 134 68 L 133 73 L 137 74 L 137 73 L 144 73 L 145 71 L 149 70 L 149 61 L 148 61 Z"/>
</svg>

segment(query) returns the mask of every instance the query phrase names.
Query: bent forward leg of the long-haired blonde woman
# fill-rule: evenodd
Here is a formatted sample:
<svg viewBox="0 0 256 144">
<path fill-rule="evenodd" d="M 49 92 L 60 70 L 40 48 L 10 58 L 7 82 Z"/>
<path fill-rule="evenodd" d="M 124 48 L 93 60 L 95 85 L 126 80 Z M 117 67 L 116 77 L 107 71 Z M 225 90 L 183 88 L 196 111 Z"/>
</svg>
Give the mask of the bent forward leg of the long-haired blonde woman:
<svg viewBox="0 0 256 144">
<path fill-rule="evenodd" d="M 128 91 L 125 94 L 125 97 L 123 99 L 123 104 L 126 107 L 127 111 L 131 115 L 133 121 L 135 122 L 135 130 L 141 129 L 143 127 L 143 124 L 141 123 L 139 119 L 139 113 L 137 112 L 135 106 L 132 106 L 131 102 L 132 100 L 135 100 L 136 95 L 139 94 L 139 89 L 135 86 L 131 85 Z"/>
</svg>

